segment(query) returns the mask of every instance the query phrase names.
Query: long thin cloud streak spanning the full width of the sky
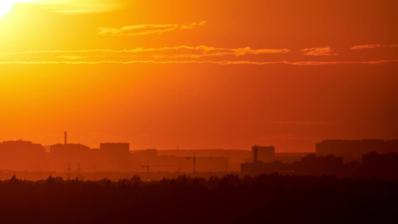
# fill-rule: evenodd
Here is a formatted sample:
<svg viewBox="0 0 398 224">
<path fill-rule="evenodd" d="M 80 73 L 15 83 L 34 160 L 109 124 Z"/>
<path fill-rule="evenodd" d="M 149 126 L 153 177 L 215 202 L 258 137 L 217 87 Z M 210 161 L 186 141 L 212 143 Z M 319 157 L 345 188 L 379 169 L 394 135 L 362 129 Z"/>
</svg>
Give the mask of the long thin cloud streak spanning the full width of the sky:
<svg viewBox="0 0 398 224">
<path fill-rule="evenodd" d="M 272 64 L 286 64 L 286 65 L 338 65 L 338 64 L 385 64 L 394 63 L 397 60 L 384 60 L 384 61 L 302 61 L 302 62 L 288 62 L 288 61 L 267 61 L 267 62 L 256 62 L 256 61 L 0 61 L 0 65 L 6 64 L 134 64 L 134 63 L 152 63 L 152 64 L 185 64 L 185 63 L 211 63 L 217 65 L 272 65 Z"/>
</svg>

